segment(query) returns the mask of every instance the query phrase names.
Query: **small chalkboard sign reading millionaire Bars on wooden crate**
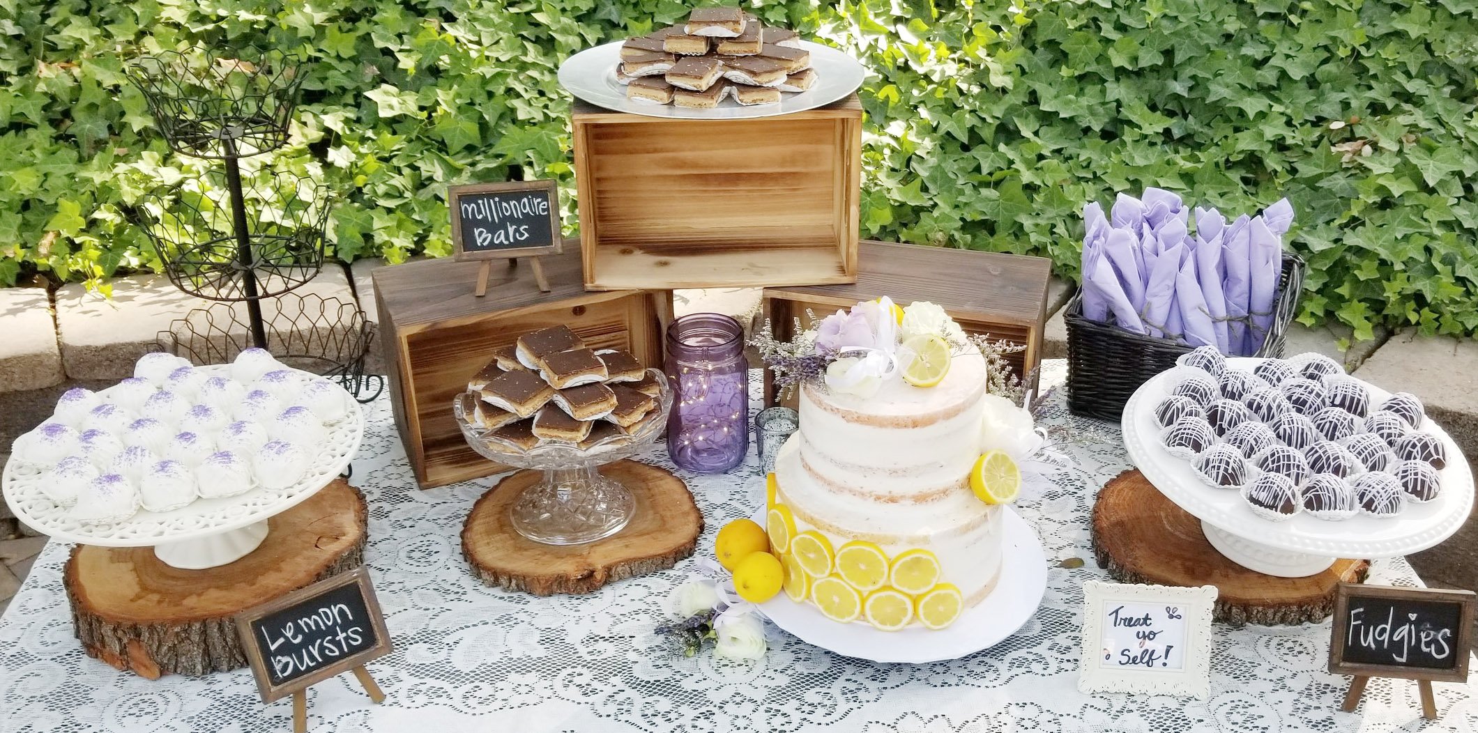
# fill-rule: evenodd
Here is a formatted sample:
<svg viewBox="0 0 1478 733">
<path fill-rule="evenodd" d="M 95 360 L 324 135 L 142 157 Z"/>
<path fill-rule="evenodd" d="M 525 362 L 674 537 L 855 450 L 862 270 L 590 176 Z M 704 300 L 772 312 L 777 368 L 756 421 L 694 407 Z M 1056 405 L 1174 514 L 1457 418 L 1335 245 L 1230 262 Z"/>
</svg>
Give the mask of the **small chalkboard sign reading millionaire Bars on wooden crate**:
<svg viewBox="0 0 1478 733">
<path fill-rule="evenodd" d="M 553 180 L 451 186 L 446 205 L 457 260 L 560 253 L 559 189 Z"/>
</svg>

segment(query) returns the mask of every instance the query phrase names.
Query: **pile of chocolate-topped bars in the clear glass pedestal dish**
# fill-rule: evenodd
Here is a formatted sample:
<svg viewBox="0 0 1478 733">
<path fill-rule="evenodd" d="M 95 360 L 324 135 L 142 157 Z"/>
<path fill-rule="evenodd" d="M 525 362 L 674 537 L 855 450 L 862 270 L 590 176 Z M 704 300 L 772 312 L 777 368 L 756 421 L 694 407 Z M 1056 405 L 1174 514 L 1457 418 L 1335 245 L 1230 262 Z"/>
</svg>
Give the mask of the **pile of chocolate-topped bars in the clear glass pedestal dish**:
<svg viewBox="0 0 1478 733">
<path fill-rule="evenodd" d="M 568 327 L 500 349 L 463 395 L 463 415 L 525 451 L 621 445 L 659 417 L 662 387 L 631 352 L 593 350 Z"/>
</svg>

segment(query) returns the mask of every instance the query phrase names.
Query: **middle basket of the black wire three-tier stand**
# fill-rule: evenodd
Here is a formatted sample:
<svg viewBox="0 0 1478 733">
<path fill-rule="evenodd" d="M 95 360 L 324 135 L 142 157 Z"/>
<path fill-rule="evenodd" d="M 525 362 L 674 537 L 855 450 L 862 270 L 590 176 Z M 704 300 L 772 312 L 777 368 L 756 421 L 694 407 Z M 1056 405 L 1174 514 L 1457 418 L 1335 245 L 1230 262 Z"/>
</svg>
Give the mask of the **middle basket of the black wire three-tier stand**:
<svg viewBox="0 0 1478 733">
<path fill-rule="evenodd" d="M 328 188 L 297 173 L 245 171 L 242 201 L 251 205 L 238 216 L 228 183 L 226 171 L 211 170 L 158 186 L 136 207 L 170 282 L 207 300 L 238 301 L 281 296 L 313 279 L 324 266 Z M 250 260 L 242 260 L 238 226 L 245 228 Z"/>
</svg>

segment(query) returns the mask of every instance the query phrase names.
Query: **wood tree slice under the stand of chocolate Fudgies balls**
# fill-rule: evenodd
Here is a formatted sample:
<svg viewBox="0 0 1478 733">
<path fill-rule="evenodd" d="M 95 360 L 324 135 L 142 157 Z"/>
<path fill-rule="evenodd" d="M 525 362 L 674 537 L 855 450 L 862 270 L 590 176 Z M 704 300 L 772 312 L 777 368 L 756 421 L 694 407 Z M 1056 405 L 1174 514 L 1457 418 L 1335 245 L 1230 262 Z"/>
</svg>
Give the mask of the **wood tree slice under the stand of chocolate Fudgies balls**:
<svg viewBox="0 0 1478 733">
<path fill-rule="evenodd" d="M 1213 618 L 1242 625 L 1304 624 L 1329 618 L 1339 582 L 1364 582 L 1370 563 L 1335 560 L 1307 578 L 1249 570 L 1216 551 L 1199 519 L 1165 498 L 1137 470 L 1110 480 L 1094 504 L 1094 557 L 1120 582 L 1215 585 Z"/>
</svg>

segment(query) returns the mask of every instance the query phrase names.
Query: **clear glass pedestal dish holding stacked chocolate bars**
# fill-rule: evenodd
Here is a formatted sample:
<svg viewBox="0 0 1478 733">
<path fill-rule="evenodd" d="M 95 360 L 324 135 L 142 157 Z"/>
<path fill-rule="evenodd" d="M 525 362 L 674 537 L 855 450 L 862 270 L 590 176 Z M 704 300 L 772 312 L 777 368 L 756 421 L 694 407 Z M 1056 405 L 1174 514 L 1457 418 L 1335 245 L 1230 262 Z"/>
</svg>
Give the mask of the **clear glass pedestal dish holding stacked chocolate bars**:
<svg viewBox="0 0 1478 733">
<path fill-rule="evenodd" d="M 510 505 L 508 519 L 514 531 L 535 542 L 579 545 L 621 532 L 631 522 L 637 508 L 631 492 L 621 482 L 602 476 L 599 468 L 652 445 L 667 427 L 672 390 L 661 371 L 647 372 L 661 386 L 656 409 L 638 423 L 636 433 L 612 434 L 584 448 L 544 442 L 525 449 L 498 437 L 494 430 L 483 430 L 467 421 L 476 393 L 463 393 L 454 403 L 457 424 L 473 451 L 504 466 L 544 471 L 539 482 L 523 489 Z"/>
</svg>

